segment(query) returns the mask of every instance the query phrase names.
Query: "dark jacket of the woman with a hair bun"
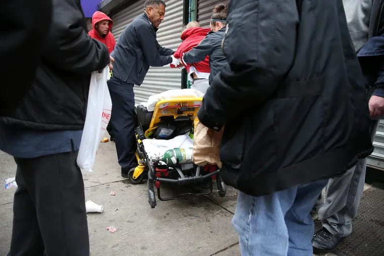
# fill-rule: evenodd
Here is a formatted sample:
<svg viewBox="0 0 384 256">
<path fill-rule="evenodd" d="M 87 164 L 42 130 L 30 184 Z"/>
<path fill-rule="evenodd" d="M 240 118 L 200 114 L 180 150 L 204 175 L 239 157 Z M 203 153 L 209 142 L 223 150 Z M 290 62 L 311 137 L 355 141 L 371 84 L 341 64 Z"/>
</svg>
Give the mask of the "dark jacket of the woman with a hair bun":
<svg viewBox="0 0 384 256">
<path fill-rule="evenodd" d="M 209 67 L 211 70 L 209 84 L 212 83 L 213 77 L 228 64 L 221 49 L 221 41 L 223 40 L 225 29 L 226 27 L 223 27 L 219 31 L 209 32 L 203 41 L 183 57 L 186 63 L 196 63 L 203 61 L 206 56 L 209 56 Z"/>
</svg>

